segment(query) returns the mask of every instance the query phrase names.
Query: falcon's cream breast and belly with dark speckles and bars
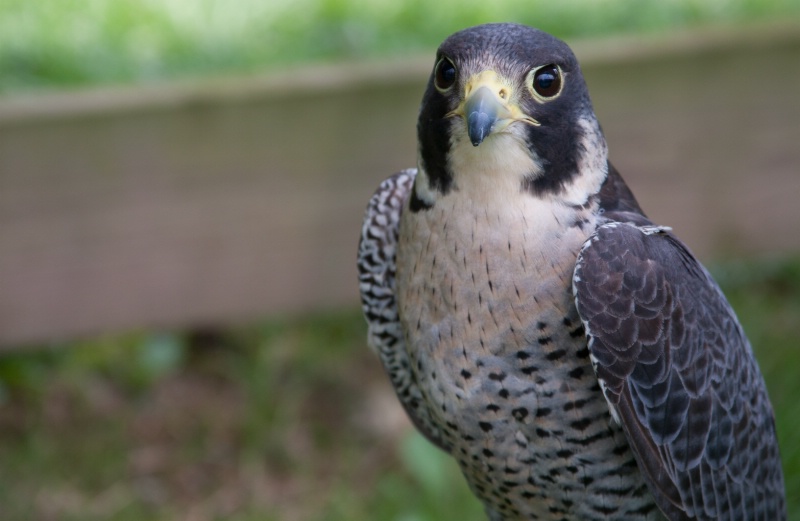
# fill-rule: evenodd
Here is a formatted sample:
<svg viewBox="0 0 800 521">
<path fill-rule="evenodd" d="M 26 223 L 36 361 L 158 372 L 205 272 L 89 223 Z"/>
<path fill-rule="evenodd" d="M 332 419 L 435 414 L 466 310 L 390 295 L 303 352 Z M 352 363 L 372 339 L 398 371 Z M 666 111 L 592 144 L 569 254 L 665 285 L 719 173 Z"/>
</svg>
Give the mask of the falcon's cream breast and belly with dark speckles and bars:
<svg viewBox="0 0 800 521">
<path fill-rule="evenodd" d="M 659 519 L 571 295 L 593 223 L 472 205 L 404 212 L 396 285 L 413 378 L 470 486 L 495 519 Z"/>
</svg>

